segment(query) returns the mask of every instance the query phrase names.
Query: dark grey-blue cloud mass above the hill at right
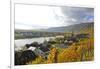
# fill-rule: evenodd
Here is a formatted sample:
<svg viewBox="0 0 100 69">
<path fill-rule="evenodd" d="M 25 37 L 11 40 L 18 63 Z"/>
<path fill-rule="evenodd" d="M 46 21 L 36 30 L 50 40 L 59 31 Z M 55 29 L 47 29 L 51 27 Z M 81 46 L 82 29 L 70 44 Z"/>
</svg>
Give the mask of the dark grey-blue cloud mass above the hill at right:
<svg viewBox="0 0 100 69">
<path fill-rule="evenodd" d="M 83 7 L 61 7 L 64 14 L 64 23 L 84 23 L 94 21 L 94 9 Z"/>
</svg>

